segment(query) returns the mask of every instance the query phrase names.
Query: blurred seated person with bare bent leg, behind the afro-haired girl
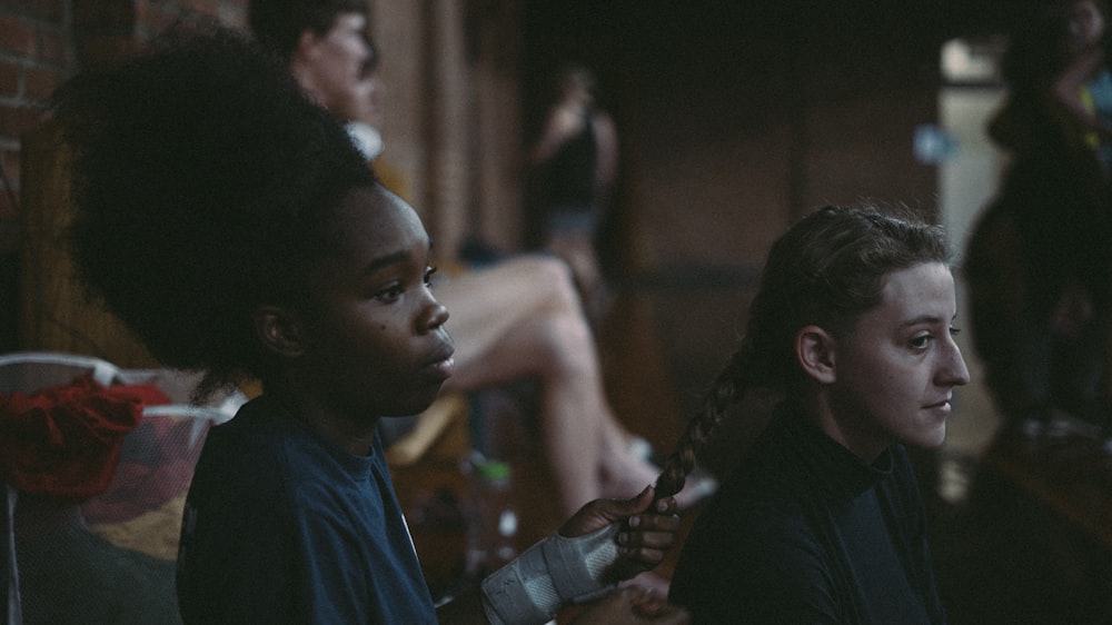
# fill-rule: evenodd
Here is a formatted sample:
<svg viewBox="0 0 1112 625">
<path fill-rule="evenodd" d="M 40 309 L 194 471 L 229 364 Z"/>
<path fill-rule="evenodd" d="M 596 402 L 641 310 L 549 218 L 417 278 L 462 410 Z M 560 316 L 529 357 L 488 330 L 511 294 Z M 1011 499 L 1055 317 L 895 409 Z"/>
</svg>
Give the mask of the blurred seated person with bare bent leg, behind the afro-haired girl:
<svg viewBox="0 0 1112 625">
<path fill-rule="evenodd" d="M 250 4 L 249 21 L 314 99 L 375 142 L 380 111 L 367 14 L 364 0 L 265 0 Z M 380 151 L 379 143 L 365 155 Z M 565 264 L 512 258 L 438 284 L 437 297 L 451 310 L 457 337 L 456 371 L 445 390 L 538 383 L 543 447 L 564 513 L 598 497 L 632 496 L 655 480 L 659 469 L 635 453 L 606 399 L 597 347 Z M 714 485 L 692 482 L 676 495 L 682 509 Z"/>
</svg>

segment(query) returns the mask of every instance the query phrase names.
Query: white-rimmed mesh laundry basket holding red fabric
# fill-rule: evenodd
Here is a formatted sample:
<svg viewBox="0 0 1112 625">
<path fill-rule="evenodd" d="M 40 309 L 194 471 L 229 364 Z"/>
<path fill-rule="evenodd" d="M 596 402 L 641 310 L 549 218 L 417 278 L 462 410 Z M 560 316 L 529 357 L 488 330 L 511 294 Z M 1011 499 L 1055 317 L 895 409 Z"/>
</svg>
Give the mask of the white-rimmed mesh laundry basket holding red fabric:
<svg viewBox="0 0 1112 625">
<path fill-rule="evenodd" d="M 99 495 L 72 503 L 3 484 L 0 598 L 7 622 L 177 623 L 173 560 L 192 468 L 208 429 L 229 419 L 246 397 L 230 393 L 196 405 L 196 375 L 120 369 L 71 354 L 0 355 L 6 396 L 86 375 L 102 386 L 155 385 L 171 403 L 143 407 Z"/>
</svg>

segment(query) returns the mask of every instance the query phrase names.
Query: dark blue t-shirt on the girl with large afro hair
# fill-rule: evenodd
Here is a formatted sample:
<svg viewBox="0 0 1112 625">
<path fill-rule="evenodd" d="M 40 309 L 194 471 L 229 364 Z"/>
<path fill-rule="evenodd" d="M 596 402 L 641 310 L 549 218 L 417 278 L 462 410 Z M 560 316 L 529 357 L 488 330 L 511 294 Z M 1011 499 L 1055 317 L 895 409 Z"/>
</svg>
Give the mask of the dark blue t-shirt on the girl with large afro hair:
<svg viewBox="0 0 1112 625">
<path fill-rule="evenodd" d="M 186 503 L 189 623 L 436 623 L 376 435 L 355 456 L 267 398 L 205 443 Z"/>
</svg>

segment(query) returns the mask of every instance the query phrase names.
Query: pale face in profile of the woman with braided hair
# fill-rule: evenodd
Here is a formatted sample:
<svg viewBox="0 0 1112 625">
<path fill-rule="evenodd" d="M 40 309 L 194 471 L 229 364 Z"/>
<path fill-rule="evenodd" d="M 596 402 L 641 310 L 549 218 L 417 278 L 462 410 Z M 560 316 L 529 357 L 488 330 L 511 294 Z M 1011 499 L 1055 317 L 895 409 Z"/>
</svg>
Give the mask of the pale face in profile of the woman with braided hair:
<svg viewBox="0 0 1112 625">
<path fill-rule="evenodd" d="M 953 388 L 969 381 L 954 343 L 955 315 L 954 279 L 945 265 L 890 274 L 881 304 L 833 339 L 824 429 L 867 462 L 892 443 L 941 445 Z"/>
</svg>

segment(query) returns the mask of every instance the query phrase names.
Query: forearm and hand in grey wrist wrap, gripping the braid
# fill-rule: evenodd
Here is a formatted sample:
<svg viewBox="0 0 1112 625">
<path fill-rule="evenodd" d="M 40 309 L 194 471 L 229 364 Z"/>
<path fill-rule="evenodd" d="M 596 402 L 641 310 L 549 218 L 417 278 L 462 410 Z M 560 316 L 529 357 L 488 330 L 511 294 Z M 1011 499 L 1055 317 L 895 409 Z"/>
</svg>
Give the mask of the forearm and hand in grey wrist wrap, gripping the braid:
<svg viewBox="0 0 1112 625">
<path fill-rule="evenodd" d="M 632 499 L 596 499 L 554 535 L 485 579 L 480 589 L 440 606 L 437 615 L 444 623 L 479 624 L 503 623 L 503 615 L 509 613 L 528 613 L 532 616 L 525 618 L 532 623 L 535 617 L 540 625 L 564 605 L 603 596 L 617 582 L 654 568 L 675 544 L 678 529 L 675 499 L 654 503 L 652 487 Z M 543 589 L 540 595 L 534 592 L 537 588 Z M 617 608 L 612 604 L 608 611 L 613 609 Z M 646 614 L 629 616 L 654 622 L 656 616 Z M 668 611 L 659 614 L 673 616 Z M 522 623 L 520 617 L 513 622 Z"/>
</svg>

